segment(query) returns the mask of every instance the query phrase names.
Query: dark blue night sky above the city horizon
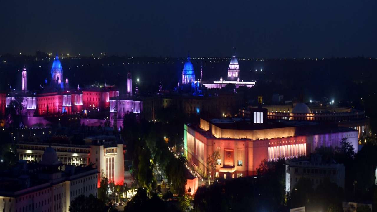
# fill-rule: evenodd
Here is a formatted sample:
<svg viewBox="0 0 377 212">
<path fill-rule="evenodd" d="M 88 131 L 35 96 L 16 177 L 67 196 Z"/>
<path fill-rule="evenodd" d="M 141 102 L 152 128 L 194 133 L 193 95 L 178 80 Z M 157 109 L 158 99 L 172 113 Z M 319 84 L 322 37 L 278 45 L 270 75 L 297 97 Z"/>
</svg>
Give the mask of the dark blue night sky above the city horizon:
<svg viewBox="0 0 377 212">
<path fill-rule="evenodd" d="M 0 53 L 377 57 L 376 0 L 5 1 Z"/>
</svg>

